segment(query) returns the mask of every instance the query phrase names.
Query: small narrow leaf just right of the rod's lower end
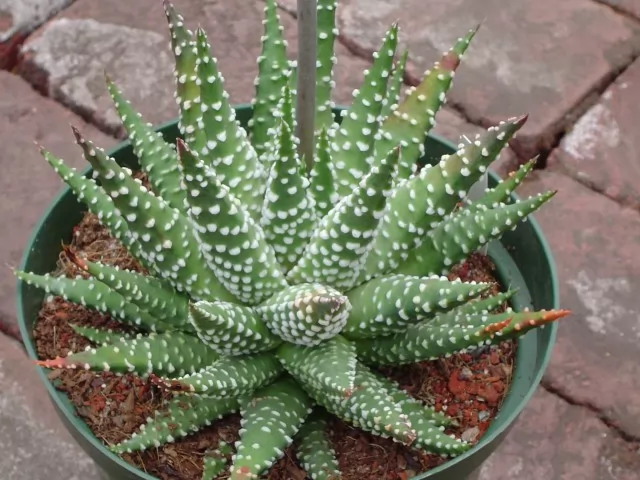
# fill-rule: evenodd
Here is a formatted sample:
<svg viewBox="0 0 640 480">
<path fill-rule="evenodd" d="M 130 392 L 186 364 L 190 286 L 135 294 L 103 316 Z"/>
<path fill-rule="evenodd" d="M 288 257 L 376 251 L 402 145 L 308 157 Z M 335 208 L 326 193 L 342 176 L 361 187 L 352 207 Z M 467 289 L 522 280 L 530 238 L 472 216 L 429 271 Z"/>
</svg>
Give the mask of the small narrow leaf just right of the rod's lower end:
<svg viewBox="0 0 640 480">
<path fill-rule="evenodd" d="M 320 130 L 316 158 L 309 172 L 309 193 L 313 198 L 315 217 L 322 218 L 338 202 L 333 178 L 333 162 L 331 160 L 331 144 L 327 130 Z"/>
</svg>

